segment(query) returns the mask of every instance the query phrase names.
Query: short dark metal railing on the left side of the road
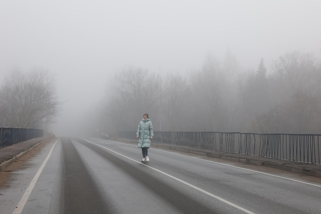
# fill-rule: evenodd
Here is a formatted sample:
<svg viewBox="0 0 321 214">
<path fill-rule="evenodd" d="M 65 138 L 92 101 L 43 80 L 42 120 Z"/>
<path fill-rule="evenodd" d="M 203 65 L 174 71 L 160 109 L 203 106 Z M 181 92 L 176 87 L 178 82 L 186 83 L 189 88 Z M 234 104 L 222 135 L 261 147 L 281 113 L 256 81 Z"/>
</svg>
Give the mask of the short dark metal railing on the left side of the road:
<svg viewBox="0 0 321 214">
<path fill-rule="evenodd" d="M 43 129 L 0 127 L 0 148 L 43 136 Z"/>
</svg>

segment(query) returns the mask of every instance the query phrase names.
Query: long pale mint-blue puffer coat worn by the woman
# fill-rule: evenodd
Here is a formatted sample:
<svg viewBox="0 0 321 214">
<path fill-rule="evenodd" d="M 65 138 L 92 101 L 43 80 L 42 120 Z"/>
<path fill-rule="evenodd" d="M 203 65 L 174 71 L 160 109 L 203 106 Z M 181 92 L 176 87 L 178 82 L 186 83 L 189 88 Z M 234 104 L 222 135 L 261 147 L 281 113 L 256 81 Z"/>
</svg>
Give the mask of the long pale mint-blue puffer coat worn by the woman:
<svg viewBox="0 0 321 214">
<path fill-rule="evenodd" d="M 149 118 L 139 122 L 136 135 L 139 136 L 139 148 L 150 148 L 150 137 L 154 137 L 154 133 L 153 125 Z"/>
</svg>

